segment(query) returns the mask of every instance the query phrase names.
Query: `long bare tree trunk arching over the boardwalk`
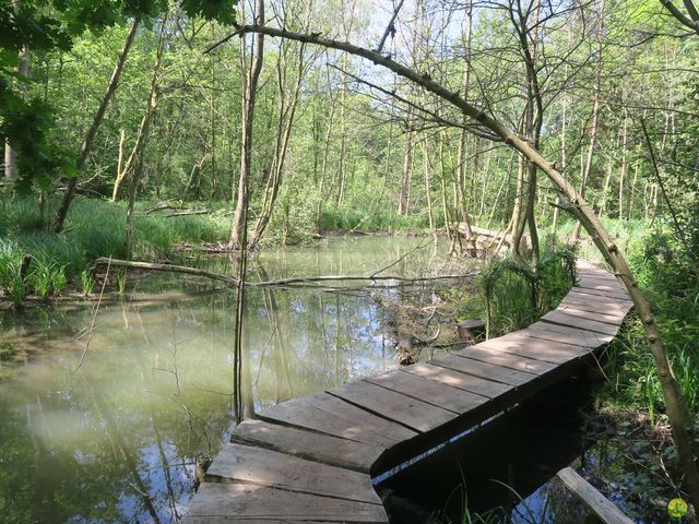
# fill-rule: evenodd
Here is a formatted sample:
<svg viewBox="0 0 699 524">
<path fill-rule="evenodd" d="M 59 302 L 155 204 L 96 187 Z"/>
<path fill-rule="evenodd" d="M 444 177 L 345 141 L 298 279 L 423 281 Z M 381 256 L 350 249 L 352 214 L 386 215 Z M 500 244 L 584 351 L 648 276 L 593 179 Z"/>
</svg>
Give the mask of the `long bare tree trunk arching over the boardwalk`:
<svg viewBox="0 0 699 524">
<path fill-rule="evenodd" d="M 556 167 L 546 160 L 546 158 L 544 158 L 542 154 L 531 146 L 525 140 L 521 139 L 517 133 L 510 131 L 499 121 L 495 120 L 486 114 L 485 110 L 466 102 L 459 95 L 459 93 L 450 92 L 429 76 L 406 68 L 405 66 L 402 66 L 379 52 L 371 51 L 346 41 L 324 38 L 318 34 L 295 33 L 262 25 L 245 25 L 240 26 L 226 38 L 211 46 L 206 52 L 235 36 L 242 36 L 247 33 L 259 33 L 271 37 L 288 38 L 292 40 L 337 49 L 351 55 L 363 57 L 370 60 L 376 66 L 389 69 L 395 74 L 415 83 L 457 107 L 464 116 L 474 120 L 474 126 L 479 128 L 483 134 L 491 134 L 494 135 L 494 139 L 503 141 L 549 178 L 555 190 L 559 193 L 561 202 L 564 202 L 562 206 L 572 213 L 578 221 L 580 221 L 582 226 L 592 237 L 592 240 L 604 257 L 605 261 L 614 270 L 615 275 L 623 282 L 631 297 L 631 300 L 633 301 L 636 311 L 643 322 L 645 335 L 650 343 L 650 348 L 655 360 L 655 367 L 663 389 L 663 397 L 673 430 L 679 464 L 686 477 L 687 491 L 691 503 L 695 508 L 699 508 L 699 471 L 697 469 L 689 429 L 691 417 L 683 397 L 682 390 L 672 371 L 660 330 L 655 318 L 651 312 L 650 305 L 639 289 L 628 263 L 619 252 L 618 247 L 614 243 L 612 236 L 604 228 L 600 218 L 595 215 L 592 209 L 585 203 L 582 195 L 568 181 L 566 181 Z"/>
</svg>

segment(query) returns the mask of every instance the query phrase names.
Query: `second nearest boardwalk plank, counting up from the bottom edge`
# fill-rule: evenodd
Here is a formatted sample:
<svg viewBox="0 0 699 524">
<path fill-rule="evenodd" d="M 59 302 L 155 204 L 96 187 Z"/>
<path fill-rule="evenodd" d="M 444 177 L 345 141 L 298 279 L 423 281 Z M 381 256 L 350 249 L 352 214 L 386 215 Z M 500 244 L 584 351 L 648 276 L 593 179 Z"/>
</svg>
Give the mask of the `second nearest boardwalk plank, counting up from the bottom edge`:
<svg viewBox="0 0 699 524">
<path fill-rule="evenodd" d="M 381 504 L 368 474 L 253 445 L 224 445 L 209 467 L 206 480 L 250 483 L 301 493 Z"/>
</svg>

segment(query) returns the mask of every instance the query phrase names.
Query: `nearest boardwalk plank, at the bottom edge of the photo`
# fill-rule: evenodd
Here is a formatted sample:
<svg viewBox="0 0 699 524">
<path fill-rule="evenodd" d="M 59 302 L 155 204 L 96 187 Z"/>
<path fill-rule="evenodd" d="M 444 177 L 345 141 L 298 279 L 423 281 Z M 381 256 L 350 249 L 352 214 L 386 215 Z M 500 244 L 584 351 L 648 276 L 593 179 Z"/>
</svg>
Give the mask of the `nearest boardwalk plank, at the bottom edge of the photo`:
<svg viewBox="0 0 699 524">
<path fill-rule="evenodd" d="M 246 524 L 264 521 L 388 523 L 386 510 L 378 504 L 250 484 L 204 483 L 185 522 L 214 522 L 216 517 Z"/>
</svg>

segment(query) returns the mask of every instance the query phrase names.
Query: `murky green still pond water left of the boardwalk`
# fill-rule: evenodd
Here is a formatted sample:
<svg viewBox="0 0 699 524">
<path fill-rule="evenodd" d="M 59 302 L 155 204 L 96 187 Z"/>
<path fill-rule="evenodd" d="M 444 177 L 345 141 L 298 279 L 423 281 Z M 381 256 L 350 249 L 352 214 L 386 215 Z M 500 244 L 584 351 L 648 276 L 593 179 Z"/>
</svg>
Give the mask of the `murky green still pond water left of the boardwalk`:
<svg viewBox="0 0 699 524">
<path fill-rule="evenodd" d="M 249 273 L 426 276 L 445 271 L 440 252 L 424 238 L 334 238 L 263 252 Z M 205 265 L 232 271 L 226 258 Z M 127 281 L 131 299 L 98 309 L 0 313 L 0 522 L 177 522 L 197 456 L 228 439 L 234 294 L 182 275 Z M 381 311 L 346 285 L 249 290 L 248 409 L 398 366 Z"/>
</svg>

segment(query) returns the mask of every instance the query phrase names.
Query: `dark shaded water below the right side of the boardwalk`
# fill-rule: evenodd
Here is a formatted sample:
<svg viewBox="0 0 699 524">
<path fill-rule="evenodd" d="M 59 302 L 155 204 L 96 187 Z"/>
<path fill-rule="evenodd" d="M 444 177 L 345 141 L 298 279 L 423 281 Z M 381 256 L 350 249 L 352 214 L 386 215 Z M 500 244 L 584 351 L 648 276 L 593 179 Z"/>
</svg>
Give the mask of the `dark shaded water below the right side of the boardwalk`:
<svg viewBox="0 0 699 524">
<path fill-rule="evenodd" d="M 556 487 L 549 480 L 584 450 L 581 413 L 591 405 L 591 374 L 581 369 L 383 481 L 379 492 L 391 522 L 467 522 L 464 484 L 469 511 L 489 512 L 493 520 L 487 522 L 583 522 L 585 511 L 576 501 L 552 508 L 547 500 Z M 550 520 L 555 513 L 557 519 Z"/>
</svg>

